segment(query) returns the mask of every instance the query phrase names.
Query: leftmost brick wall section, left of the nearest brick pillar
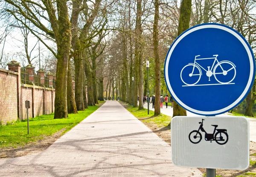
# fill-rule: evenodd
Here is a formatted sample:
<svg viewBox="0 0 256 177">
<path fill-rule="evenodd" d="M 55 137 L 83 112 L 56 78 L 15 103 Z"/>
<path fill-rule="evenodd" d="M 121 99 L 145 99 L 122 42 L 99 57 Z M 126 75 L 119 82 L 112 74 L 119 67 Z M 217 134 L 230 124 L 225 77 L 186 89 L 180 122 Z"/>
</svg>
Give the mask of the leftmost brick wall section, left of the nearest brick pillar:
<svg viewBox="0 0 256 177">
<path fill-rule="evenodd" d="M 0 121 L 17 120 L 18 73 L 0 69 Z"/>
</svg>

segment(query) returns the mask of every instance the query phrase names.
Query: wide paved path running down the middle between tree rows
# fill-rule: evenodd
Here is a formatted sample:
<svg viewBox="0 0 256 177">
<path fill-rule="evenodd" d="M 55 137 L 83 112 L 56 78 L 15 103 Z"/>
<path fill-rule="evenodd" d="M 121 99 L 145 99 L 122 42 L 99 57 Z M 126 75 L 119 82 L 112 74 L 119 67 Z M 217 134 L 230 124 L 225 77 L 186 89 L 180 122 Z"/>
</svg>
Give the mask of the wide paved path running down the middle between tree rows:
<svg viewBox="0 0 256 177">
<path fill-rule="evenodd" d="M 184 157 L 185 158 L 185 157 Z M 201 177 L 117 101 L 107 101 L 46 150 L 0 160 L 1 177 Z"/>
</svg>

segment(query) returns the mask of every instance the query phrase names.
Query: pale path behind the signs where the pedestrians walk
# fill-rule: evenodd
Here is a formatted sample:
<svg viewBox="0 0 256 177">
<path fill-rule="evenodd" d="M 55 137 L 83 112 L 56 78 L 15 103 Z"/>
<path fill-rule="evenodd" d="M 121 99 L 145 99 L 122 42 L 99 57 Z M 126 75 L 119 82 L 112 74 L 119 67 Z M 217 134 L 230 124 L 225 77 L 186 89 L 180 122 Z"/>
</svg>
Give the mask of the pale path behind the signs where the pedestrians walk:
<svg viewBox="0 0 256 177">
<path fill-rule="evenodd" d="M 148 108 L 147 103 L 144 104 L 144 108 L 146 109 Z M 154 111 L 154 108 L 152 108 L 152 104 L 149 104 L 149 110 Z M 172 117 L 173 108 L 171 106 L 168 106 L 166 108 L 165 103 L 163 103 L 163 108 L 161 108 L 161 113 Z M 187 116 L 201 116 L 201 115 L 194 114 L 192 112 L 187 111 Z M 224 113 L 217 116 L 230 116 L 230 114 Z M 248 118 L 248 120 L 249 120 L 249 129 L 250 129 L 250 141 L 256 142 L 256 119 Z"/>
</svg>

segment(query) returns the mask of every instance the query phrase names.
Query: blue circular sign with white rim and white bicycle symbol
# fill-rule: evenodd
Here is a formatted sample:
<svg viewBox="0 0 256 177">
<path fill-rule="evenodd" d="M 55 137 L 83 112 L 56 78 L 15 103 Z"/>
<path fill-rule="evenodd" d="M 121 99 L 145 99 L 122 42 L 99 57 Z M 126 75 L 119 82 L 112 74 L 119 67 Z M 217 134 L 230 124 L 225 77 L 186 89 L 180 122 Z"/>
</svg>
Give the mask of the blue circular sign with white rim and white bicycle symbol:
<svg viewBox="0 0 256 177">
<path fill-rule="evenodd" d="M 180 106 L 212 116 L 244 100 L 255 79 L 255 59 L 239 32 L 206 23 L 177 37 L 166 56 L 164 75 Z"/>
</svg>

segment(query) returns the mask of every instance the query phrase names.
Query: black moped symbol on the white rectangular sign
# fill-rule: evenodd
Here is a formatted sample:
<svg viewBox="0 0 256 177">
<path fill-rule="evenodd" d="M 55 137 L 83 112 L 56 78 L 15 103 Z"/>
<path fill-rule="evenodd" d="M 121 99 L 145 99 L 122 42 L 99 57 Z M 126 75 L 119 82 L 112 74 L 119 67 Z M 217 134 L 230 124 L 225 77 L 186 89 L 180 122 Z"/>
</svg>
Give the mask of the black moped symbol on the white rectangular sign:
<svg viewBox="0 0 256 177">
<path fill-rule="evenodd" d="M 216 129 L 218 126 L 217 125 L 211 125 L 214 126 L 214 131 L 212 134 L 208 134 L 204 128 L 203 128 L 203 120 L 202 122 L 199 122 L 199 124 L 201 124 L 198 128 L 198 130 L 193 130 L 189 133 L 189 141 L 191 143 L 197 144 L 202 140 L 202 134 L 199 132 L 199 130 L 203 131 L 205 133 L 205 137 L 204 139 L 206 141 L 211 141 L 215 140 L 216 143 L 223 145 L 227 143 L 228 140 L 228 135 L 227 135 L 227 130 L 226 129 Z M 215 133 L 215 131 L 217 131 Z"/>
</svg>

